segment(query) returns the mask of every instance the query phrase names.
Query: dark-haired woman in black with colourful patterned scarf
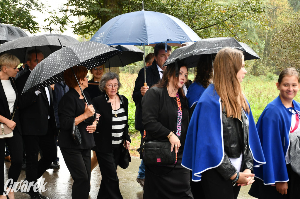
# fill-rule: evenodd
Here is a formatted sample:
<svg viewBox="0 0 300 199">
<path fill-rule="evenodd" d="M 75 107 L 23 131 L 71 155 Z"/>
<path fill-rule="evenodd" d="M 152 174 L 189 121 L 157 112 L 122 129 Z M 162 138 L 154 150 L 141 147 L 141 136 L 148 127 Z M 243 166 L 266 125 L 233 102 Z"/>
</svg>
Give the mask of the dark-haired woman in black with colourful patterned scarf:
<svg viewBox="0 0 300 199">
<path fill-rule="evenodd" d="M 168 66 L 161 82 L 150 88 L 142 99 L 145 142 L 169 140 L 172 145 L 171 151 L 175 150 L 177 153 L 175 167 L 146 166 L 144 199 L 174 196 L 193 198 L 190 190 L 190 171 L 181 165 L 189 123 L 187 99 L 182 89 L 187 81 L 187 68 L 182 66 L 177 72 L 178 77 L 176 67 Z"/>
</svg>

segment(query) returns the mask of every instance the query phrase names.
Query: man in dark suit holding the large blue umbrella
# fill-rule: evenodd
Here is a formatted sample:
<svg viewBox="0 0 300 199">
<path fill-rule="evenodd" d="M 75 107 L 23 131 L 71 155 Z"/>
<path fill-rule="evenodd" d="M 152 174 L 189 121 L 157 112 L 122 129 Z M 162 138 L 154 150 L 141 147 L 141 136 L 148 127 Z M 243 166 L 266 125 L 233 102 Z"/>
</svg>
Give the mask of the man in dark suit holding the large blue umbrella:
<svg viewBox="0 0 300 199">
<path fill-rule="evenodd" d="M 147 86 L 144 86 L 144 68 L 142 68 L 135 80 L 134 91 L 132 94 L 132 99 L 135 102 L 135 129 L 141 133 L 141 145 L 143 145 L 143 134 L 144 127 L 142 124 L 142 98 L 146 91 L 151 88 L 152 85 L 158 83 L 163 76 L 163 72 L 166 66 L 163 67 L 164 63 L 170 56 L 172 52 L 171 46 L 167 45 L 167 52 L 165 51 L 165 43 L 158 43 L 154 47 L 154 61 L 152 65 L 146 68 L 146 81 Z M 145 165 L 143 160 L 141 161 L 139 168 L 139 175 L 137 176 L 137 182 L 144 188 L 145 181 Z"/>
</svg>

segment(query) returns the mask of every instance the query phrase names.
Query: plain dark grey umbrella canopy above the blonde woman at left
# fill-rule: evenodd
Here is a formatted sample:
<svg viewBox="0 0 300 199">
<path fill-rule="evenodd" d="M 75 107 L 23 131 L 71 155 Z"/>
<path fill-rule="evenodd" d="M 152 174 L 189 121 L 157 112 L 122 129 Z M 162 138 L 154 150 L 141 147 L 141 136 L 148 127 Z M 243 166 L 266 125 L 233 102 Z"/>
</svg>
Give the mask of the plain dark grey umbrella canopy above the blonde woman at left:
<svg viewBox="0 0 300 199">
<path fill-rule="evenodd" d="M 5 42 L 0 46 L 0 53 L 10 53 L 18 57 L 21 63 L 26 63 L 27 56 L 26 53 L 29 50 L 38 48 L 47 57 L 49 54 L 61 49 L 61 46 L 69 46 L 71 43 L 62 38 L 54 36 L 29 36 L 29 37 L 19 37 L 16 40 Z"/>
</svg>

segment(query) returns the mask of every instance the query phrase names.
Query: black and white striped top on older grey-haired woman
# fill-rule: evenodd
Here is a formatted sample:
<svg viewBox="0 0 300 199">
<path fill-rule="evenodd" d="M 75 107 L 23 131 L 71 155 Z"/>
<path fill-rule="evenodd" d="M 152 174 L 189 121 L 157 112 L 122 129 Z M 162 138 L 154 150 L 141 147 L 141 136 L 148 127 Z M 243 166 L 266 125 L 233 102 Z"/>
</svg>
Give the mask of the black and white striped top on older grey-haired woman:
<svg viewBox="0 0 300 199">
<path fill-rule="evenodd" d="M 127 116 L 125 114 L 124 105 L 120 100 L 120 108 L 116 111 L 118 117 L 115 117 L 115 110 L 112 109 L 113 125 L 112 125 L 112 143 L 123 143 L 124 128 L 126 126 Z"/>
</svg>

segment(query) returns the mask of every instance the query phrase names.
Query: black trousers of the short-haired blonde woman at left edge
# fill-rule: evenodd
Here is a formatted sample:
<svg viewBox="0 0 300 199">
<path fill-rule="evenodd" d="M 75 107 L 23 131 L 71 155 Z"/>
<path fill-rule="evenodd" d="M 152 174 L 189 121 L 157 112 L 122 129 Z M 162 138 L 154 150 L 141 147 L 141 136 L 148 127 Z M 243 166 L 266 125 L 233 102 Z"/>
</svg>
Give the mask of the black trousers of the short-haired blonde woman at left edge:
<svg viewBox="0 0 300 199">
<path fill-rule="evenodd" d="M 2 167 L 0 171 L 0 187 L 4 187 L 4 156 L 5 156 L 5 142 L 10 150 L 10 159 L 11 165 L 8 170 L 8 179 L 13 179 L 13 182 L 18 181 L 19 175 L 21 173 L 22 167 L 22 158 L 23 158 L 23 141 L 22 136 L 19 134 L 19 131 L 16 129 L 13 131 L 13 137 L 0 139 L 0 165 Z M 8 184 L 8 186 L 12 185 Z M 4 187 L 6 189 L 6 187 Z M 0 190 L 0 195 L 3 195 L 3 192 Z"/>
</svg>

